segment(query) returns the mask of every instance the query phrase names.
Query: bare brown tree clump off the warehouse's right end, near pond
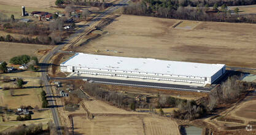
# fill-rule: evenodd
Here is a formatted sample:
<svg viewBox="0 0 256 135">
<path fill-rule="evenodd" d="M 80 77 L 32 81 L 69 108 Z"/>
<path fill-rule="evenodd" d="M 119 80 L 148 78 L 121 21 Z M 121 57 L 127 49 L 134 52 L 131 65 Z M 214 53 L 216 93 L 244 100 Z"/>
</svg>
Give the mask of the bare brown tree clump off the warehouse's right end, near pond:
<svg viewBox="0 0 256 135">
<path fill-rule="evenodd" d="M 215 88 L 209 93 L 209 109 L 214 110 L 217 104 L 228 104 L 239 99 L 238 97 L 249 90 L 250 82 L 239 80 L 239 76 L 228 77 L 220 87 Z"/>
</svg>

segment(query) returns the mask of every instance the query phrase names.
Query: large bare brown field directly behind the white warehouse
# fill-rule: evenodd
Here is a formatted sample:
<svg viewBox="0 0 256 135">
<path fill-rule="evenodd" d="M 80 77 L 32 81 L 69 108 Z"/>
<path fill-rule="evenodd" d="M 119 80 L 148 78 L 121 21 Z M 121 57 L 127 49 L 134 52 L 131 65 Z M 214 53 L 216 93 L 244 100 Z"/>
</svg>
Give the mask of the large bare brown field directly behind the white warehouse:
<svg viewBox="0 0 256 135">
<path fill-rule="evenodd" d="M 101 37 L 74 51 L 256 67 L 256 25 L 201 22 L 192 30 L 172 28 L 177 21 L 121 15 Z"/>
</svg>

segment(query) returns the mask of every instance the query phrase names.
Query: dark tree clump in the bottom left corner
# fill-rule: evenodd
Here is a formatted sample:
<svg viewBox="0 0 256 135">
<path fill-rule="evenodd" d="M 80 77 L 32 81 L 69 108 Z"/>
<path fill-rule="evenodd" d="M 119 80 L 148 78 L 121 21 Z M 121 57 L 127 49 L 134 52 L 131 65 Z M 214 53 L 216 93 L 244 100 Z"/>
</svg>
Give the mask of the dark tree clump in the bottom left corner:
<svg viewBox="0 0 256 135">
<path fill-rule="evenodd" d="M 29 126 L 22 124 L 22 125 L 18 126 L 17 128 L 13 129 L 12 131 L 8 131 L 7 133 L 0 133 L 0 135 L 41 134 L 44 131 L 42 126 L 43 126 L 42 123 L 39 123 L 37 125 L 32 123 Z"/>
</svg>

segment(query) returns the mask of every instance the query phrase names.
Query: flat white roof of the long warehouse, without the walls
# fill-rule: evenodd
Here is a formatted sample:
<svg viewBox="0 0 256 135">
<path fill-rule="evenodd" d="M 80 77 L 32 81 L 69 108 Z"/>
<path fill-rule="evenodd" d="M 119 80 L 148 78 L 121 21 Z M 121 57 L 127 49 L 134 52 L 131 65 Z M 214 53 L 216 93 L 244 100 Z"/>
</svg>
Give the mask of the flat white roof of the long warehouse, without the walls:
<svg viewBox="0 0 256 135">
<path fill-rule="evenodd" d="M 89 67 L 117 71 L 147 72 L 153 74 L 211 77 L 225 64 L 188 63 L 180 61 L 155 60 L 151 58 L 128 58 L 120 56 L 91 55 L 76 53 L 61 66 Z"/>
</svg>

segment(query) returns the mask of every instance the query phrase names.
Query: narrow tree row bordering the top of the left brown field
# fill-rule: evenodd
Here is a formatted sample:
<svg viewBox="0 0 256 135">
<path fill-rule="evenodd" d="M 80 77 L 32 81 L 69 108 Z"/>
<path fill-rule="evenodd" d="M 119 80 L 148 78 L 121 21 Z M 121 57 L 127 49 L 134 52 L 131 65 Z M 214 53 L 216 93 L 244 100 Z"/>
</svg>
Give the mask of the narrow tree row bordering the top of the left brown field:
<svg viewBox="0 0 256 135">
<path fill-rule="evenodd" d="M 18 43 L 26 43 L 26 44 L 43 44 L 43 45 L 56 45 L 58 42 L 60 42 L 60 38 L 56 38 L 53 40 L 52 37 L 44 37 L 39 36 L 36 38 L 32 37 L 21 37 L 20 39 L 15 39 L 13 36 L 10 36 L 10 34 L 7 34 L 6 38 L 3 36 L 0 36 L 0 42 L 18 42 Z"/>
</svg>

